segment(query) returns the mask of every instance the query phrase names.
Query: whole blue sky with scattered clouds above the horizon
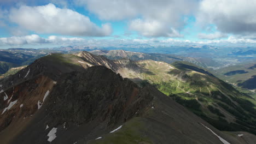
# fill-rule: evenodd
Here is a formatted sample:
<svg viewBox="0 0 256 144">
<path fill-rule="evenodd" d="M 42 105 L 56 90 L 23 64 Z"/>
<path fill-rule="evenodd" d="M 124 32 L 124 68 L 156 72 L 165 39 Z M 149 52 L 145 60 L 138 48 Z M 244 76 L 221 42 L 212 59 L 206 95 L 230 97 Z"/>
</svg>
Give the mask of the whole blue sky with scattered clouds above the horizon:
<svg viewBox="0 0 256 144">
<path fill-rule="evenodd" d="M 0 48 L 256 45 L 256 0 L 0 0 Z"/>
</svg>

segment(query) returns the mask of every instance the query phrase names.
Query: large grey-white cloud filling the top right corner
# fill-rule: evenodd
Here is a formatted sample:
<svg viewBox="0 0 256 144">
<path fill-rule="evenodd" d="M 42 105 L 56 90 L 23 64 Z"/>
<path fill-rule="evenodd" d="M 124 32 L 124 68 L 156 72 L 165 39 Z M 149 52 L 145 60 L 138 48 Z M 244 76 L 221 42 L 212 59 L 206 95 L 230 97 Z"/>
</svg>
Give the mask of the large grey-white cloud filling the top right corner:
<svg viewBox="0 0 256 144">
<path fill-rule="evenodd" d="M 256 33 L 255 0 L 203 0 L 197 20 L 203 25 L 213 23 L 225 33 Z"/>
</svg>

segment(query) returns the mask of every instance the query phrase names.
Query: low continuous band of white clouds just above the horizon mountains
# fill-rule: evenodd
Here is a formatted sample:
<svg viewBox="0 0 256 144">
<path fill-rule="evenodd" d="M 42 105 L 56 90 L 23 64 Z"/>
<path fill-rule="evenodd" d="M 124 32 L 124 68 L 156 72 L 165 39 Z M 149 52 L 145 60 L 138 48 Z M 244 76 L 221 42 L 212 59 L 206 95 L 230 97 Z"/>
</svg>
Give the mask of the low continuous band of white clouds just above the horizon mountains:
<svg viewBox="0 0 256 144">
<path fill-rule="evenodd" d="M 172 45 L 255 45 L 256 39 L 249 39 L 246 37 L 230 36 L 228 39 L 220 40 L 203 40 L 191 41 L 182 39 L 84 39 L 84 38 L 69 38 L 51 35 L 48 38 L 39 37 L 39 35 L 25 35 L 23 37 L 6 37 L 0 38 L 0 46 L 22 46 L 22 45 L 43 45 L 56 44 L 59 46 L 66 45 L 86 45 L 91 47 L 124 47 L 124 46 L 139 46 L 141 44 L 158 46 L 172 46 Z"/>
</svg>

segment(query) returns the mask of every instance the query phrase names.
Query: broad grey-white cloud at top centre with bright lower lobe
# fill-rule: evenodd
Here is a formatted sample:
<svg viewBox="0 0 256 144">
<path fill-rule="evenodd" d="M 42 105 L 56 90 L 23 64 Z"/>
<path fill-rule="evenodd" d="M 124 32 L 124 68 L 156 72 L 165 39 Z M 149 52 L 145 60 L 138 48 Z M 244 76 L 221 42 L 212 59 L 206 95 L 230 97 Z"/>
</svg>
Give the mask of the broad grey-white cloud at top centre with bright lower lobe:
<svg viewBox="0 0 256 144">
<path fill-rule="evenodd" d="M 185 16 L 196 8 L 196 0 L 76 0 L 78 5 L 102 20 L 129 19 L 129 28 L 146 37 L 181 37 Z M 139 17 L 137 19 L 136 17 Z M 158 32 L 159 31 L 159 32 Z"/>
</svg>

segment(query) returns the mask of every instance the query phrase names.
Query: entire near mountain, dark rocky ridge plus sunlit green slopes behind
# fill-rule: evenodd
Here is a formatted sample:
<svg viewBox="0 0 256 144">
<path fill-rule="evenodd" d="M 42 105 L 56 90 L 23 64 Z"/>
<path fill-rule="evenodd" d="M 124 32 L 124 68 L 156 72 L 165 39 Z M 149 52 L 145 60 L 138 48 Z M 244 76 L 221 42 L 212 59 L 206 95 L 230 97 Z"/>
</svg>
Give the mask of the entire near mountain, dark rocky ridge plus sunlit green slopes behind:
<svg viewBox="0 0 256 144">
<path fill-rule="evenodd" d="M 1 143 L 256 140 L 254 100 L 208 70 L 182 57 L 114 53 L 122 58 L 49 53 L 0 79 Z"/>
</svg>

